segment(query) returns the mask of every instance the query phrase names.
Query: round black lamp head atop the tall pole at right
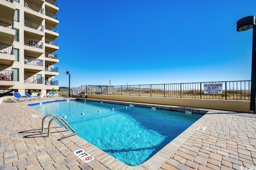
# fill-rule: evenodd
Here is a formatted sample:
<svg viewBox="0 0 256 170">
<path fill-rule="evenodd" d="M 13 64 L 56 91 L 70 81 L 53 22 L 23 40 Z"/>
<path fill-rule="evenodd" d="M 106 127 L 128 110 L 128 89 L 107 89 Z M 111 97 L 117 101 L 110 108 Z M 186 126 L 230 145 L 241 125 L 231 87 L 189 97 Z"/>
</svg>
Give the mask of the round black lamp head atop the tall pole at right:
<svg viewBox="0 0 256 170">
<path fill-rule="evenodd" d="M 237 31 L 250 30 L 255 25 L 256 25 L 255 24 L 255 16 L 246 16 L 236 22 L 236 30 Z"/>
</svg>

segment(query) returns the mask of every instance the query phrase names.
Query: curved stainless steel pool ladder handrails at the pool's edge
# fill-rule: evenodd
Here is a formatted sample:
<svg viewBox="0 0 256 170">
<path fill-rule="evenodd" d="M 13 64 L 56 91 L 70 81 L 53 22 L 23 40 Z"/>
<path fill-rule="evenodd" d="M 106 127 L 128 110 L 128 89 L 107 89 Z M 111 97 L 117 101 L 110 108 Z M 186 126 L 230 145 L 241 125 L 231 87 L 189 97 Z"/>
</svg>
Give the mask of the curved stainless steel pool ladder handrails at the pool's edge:
<svg viewBox="0 0 256 170">
<path fill-rule="evenodd" d="M 62 138 L 81 133 L 81 132 L 76 132 L 62 117 L 55 116 L 54 114 L 47 114 L 46 116 L 44 116 L 44 118 L 42 120 L 42 131 L 40 131 L 40 133 L 46 132 L 46 130 L 44 130 L 44 120 L 45 120 L 45 118 L 47 118 L 49 116 L 53 116 L 54 118 L 52 118 L 48 124 L 48 135 L 46 137 L 52 136 L 51 135 L 51 124 L 52 124 L 52 121 L 54 121 L 55 119 L 58 120 L 60 122 L 60 124 L 62 124 L 64 126 L 64 128 L 66 128 L 66 129 L 70 128 L 70 130 L 72 130 L 72 132 L 73 132 L 72 134 L 66 134 L 66 135 L 62 136 L 60 138 L 60 141 L 62 140 Z"/>
</svg>

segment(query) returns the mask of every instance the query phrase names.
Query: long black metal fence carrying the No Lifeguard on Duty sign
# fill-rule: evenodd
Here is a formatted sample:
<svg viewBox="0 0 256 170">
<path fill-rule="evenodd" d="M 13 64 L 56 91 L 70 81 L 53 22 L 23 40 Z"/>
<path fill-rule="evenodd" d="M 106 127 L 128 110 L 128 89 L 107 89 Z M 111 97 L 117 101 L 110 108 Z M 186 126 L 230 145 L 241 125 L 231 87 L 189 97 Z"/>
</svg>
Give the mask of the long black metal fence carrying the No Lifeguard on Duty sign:
<svg viewBox="0 0 256 170">
<path fill-rule="evenodd" d="M 86 92 L 121 96 L 250 100 L 250 89 L 251 80 L 245 80 L 124 86 L 87 85 Z"/>
</svg>

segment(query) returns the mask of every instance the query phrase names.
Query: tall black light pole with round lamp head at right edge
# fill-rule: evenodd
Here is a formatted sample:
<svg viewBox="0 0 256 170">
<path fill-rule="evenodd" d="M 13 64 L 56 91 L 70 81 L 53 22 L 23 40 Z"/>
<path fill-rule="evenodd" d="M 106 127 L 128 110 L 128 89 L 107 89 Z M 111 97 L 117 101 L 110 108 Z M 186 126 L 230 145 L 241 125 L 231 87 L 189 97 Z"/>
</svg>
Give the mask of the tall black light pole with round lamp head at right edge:
<svg viewBox="0 0 256 170">
<path fill-rule="evenodd" d="M 251 99 L 250 112 L 255 113 L 256 98 L 256 24 L 255 16 L 246 16 L 236 22 L 237 31 L 246 31 L 252 28 L 252 79 L 251 79 Z"/>
</svg>

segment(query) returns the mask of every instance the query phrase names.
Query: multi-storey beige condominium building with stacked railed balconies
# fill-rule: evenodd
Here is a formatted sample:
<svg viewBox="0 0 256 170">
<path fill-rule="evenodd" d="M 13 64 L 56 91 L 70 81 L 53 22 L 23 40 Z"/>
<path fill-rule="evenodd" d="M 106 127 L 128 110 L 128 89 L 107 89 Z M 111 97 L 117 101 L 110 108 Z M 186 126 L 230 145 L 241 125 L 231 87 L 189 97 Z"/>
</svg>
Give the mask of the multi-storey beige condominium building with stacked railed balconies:
<svg viewBox="0 0 256 170">
<path fill-rule="evenodd" d="M 58 89 L 58 3 L 0 0 L 0 94 Z"/>
</svg>

